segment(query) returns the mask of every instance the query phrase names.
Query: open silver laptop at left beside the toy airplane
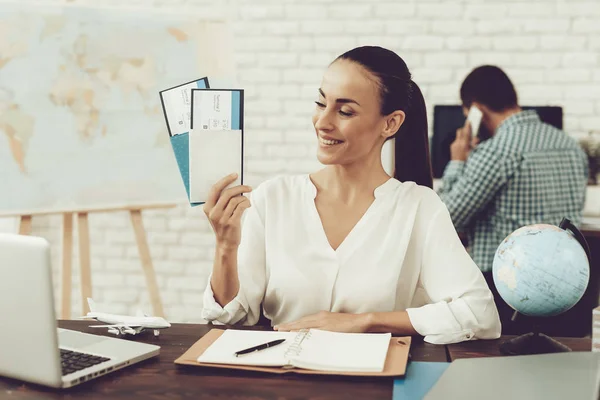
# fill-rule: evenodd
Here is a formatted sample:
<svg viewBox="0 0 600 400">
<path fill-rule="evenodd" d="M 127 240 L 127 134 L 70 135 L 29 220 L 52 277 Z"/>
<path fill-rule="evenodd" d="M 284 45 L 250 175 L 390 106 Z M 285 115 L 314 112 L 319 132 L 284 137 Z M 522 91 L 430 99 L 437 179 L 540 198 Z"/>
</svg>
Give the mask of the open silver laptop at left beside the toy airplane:
<svg viewBox="0 0 600 400">
<path fill-rule="evenodd" d="M 57 329 L 50 246 L 0 233 L 0 376 L 66 388 L 158 355 L 160 347 Z"/>
</svg>

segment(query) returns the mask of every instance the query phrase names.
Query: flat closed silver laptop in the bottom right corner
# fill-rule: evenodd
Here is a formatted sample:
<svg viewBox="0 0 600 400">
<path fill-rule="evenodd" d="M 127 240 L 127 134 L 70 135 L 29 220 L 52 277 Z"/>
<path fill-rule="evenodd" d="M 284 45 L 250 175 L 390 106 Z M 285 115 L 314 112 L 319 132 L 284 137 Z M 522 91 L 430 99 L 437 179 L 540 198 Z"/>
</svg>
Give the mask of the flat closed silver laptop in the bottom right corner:
<svg viewBox="0 0 600 400">
<path fill-rule="evenodd" d="M 425 400 L 596 400 L 600 353 L 568 352 L 453 361 Z"/>
</svg>

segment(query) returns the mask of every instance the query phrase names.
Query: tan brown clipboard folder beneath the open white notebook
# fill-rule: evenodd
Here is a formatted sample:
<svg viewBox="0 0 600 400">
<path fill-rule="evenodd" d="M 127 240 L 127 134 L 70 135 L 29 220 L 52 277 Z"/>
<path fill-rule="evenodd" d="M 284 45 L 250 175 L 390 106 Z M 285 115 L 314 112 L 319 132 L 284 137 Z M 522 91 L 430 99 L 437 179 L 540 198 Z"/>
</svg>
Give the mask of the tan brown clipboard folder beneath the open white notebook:
<svg viewBox="0 0 600 400">
<path fill-rule="evenodd" d="M 191 365 L 206 368 L 226 368 L 244 371 L 258 371 L 272 374 L 305 374 L 305 375 L 340 375 L 340 376 L 382 376 L 382 377 L 401 377 L 406 374 L 408 363 L 408 354 L 410 350 L 411 337 L 392 337 L 390 346 L 385 358 L 385 365 L 382 372 L 329 372 L 315 371 L 302 368 L 288 367 L 254 367 L 247 365 L 229 365 L 229 364 L 209 364 L 198 362 L 197 359 L 202 353 L 214 343 L 222 334 L 223 329 L 211 329 L 206 335 L 202 336 L 185 353 L 175 360 L 178 365 Z"/>
</svg>

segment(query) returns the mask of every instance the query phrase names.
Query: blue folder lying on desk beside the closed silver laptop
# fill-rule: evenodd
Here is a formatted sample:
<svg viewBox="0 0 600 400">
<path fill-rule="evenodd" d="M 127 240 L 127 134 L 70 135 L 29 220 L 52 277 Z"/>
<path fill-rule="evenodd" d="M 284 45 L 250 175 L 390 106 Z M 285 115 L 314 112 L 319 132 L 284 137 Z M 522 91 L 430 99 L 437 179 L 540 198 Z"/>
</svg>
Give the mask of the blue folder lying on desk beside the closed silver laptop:
<svg viewBox="0 0 600 400">
<path fill-rule="evenodd" d="M 393 400 L 422 399 L 449 366 L 447 362 L 411 361 L 404 378 L 394 380 Z"/>
</svg>

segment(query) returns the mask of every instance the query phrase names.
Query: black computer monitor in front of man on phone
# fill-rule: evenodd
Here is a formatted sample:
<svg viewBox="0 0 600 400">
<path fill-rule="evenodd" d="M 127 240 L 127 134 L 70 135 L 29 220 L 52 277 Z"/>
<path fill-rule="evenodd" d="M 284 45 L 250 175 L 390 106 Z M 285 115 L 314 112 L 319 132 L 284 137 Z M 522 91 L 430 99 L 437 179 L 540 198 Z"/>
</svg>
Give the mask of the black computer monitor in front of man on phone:
<svg viewBox="0 0 600 400">
<path fill-rule="evenodd" d="M 563 112 L 558 106 L 523 106 L 523 110 L 535 110 L 540 119 L 547 124 L 562 129 Z M 441 178 L 444 168 L 450 161 L 450 145 L 456 137 L 456 130 L 465 124 L 462 106 L 435 106 L 433 109 L 433 136 L 431 137 L 431 166 L 433 177 Z M 480 135 L 481 140 L 489 138 L 489 134 Z"/>
</svg>

